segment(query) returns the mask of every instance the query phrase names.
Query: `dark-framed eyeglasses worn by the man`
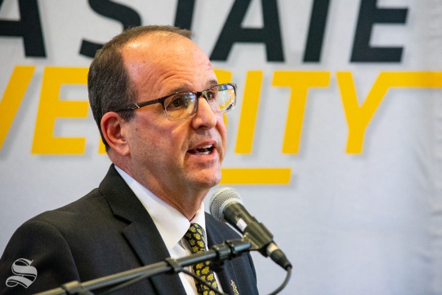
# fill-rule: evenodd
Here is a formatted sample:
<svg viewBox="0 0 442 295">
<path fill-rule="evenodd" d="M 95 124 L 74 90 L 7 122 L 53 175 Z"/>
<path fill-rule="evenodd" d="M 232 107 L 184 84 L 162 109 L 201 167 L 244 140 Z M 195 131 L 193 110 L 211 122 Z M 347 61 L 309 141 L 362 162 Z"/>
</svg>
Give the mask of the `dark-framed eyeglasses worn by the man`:
<svg viewBox="0 0 442 295">
<path fill-rule="evenodd" d="M 165 114 L 166 114 L 166 117 L 167 117 L 169 120 L 171 120 L 171 121 L 186 120 L 186 119 L 190 119 L 190 118 L 192 118 L 193 116 L 195 116 L 195 114 L 196 114 L 196 110 L 197 110 L 197 108 L 198 108 L 199 97 L 201 97 L 201 96 L 204 97 L 204 99 L 207 101 L 207 103 L 209 103 L 209 101 L 208 101 L 208 99 L 207 99 L 205 93 L 206 93 L 208 90 L 210 90 L 210 89 L 213 89 L 213 88 L 216 88 L 216 87 L 220 87 L 220 86 L 224 86 L 224 85 L 230 85 L 230 86 L 233 87 L 233 90 L 235 91 L 235 97 L 234 97 L 234 100 L 233 100 L 233 105 L 232 105 L 231 107 L 227 108 L 227 109 L 224 110 L 224 111 L 216 112 L 216 111 L 213 111 L 212 107 L 210 108 L 213 112 L 215 112 L 215 113 L 217 113 L 217 114 L 221 114 L 221 113 L 225 113 L 225 112 L 230 111 L 230 110 L 233 109 L 233 108 L 235 107 L 235 105 L 236 105 L 236 91 L 237 91 L 237 85 L 236 85 L 235 83 L 223 83 L 223 84 L 218 84 L 218 85 L 215 85 L 215 86 L 211 86 L 211 87 L 209 87 L 209 88 L 207 88 L 207 89 L 204 89 L 204 90 L 202 90 L 202 91 L 180 91 L 180 92 L 176 92 L 176 93 L 168 94 L 168 95 L 163 96 L 163 97 L 160 97 L 160 98 L 156 98 L 156 99 L 152 99 L 152 100 L 147 100 L 147 101 L 143 101 L 143 102 L 134 103 L 134 104 L 129 105 L 129 106 L 123 108 L 123 109 L 119 109 L 119 110 L 116 110 L 116 111 L 113 111 L 113 112 L 133 111 L 133 110 L 136 110 L 136 109 L 139 109 L 139 108 L 145 107 L 145 106 L 153 105 L 153 104 L 156 104 L 156 103 L 161 103 L 161 105 L 163 106 L 163 110 L 164 110 L 164 112 L 165 112 Z M 165 100 L 166 100 L 168 97 L 173 96 L 173 95 L 177 95 L 177 94 L 180 94 L 180 93 L 193 93 L 193 94 L 196 95 L 195 110 L 193 111 L 193 114 L 192 114 L 191 117 L 180 118 L 180 119 L 172 119 L 172 118 L 170 118 L 170 117 L 167 115 L 166 105 L 164 104 L 164 102 L 165 102 Z M 209 103 L 209 106 L 210 106 L 210 103 Z"/>
</svg>

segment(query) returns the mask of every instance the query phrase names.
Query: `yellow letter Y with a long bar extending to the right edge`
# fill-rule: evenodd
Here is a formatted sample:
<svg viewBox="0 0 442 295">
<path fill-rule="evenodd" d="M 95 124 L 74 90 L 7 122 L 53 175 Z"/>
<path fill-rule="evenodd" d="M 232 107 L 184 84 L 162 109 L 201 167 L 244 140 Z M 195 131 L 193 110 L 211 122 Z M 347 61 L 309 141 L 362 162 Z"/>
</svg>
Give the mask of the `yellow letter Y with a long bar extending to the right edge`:
<svg viewBox="0 0 442 295">
<path fill-rule="evenodd" d="M 365 129 L 391 87 L 442 87 L 442 72 L 381 72 L 364 103 L 359 106 L 351 72 L 337 72 L 349 128 L 347 153 L 361 153 Z"/>
</svg>

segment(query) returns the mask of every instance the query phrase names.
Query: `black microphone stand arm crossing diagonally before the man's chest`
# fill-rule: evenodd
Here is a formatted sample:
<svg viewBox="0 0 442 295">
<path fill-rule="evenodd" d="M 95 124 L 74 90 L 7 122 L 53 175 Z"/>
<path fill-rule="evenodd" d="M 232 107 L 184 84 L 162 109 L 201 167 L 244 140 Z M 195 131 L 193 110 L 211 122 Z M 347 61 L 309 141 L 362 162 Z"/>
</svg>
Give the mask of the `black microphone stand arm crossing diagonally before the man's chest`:
<svg viewBox="0 0 442 295">
<path fill-rule="evenodd" d="M 250 248 L 251 243 L 248 239 L 226 240 L 222 244 L 210 247 L 208 251 L 194 253 L 178 259 L 169 257 L 162 262 L 126 270 L 84 283 L 78 281 L 68 282 L 61 285 L 59 288 L 35 295 L 93 295 L 91 292 L 92 290 L 121 284 L 134 278 L 138 278 L 139 276 L 147 278 L 167 271 L 176 273 L 181 271 L 185 266 L 191 266 L 204 261 L 213 261 L 214 266 L 221 269 L 225 260 L 231 260 L 238 257 L 243 253 L 248 252 Z"/>
</svg>

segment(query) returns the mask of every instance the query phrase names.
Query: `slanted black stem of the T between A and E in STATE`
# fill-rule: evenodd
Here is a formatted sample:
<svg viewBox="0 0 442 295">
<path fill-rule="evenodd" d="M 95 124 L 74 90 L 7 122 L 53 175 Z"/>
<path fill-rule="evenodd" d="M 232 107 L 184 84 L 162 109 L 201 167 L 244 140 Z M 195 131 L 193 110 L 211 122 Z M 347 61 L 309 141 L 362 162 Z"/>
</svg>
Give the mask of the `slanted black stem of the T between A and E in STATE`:
<svg viewBox="0 0 442 295">
<path fill-rule="evenodd" d="M 308 28 L 307 44 L 305 45 L 304 61 L 321 59 L 322 42 L 329 14 L 330 0 L 314 0 Z"/>
</svg>

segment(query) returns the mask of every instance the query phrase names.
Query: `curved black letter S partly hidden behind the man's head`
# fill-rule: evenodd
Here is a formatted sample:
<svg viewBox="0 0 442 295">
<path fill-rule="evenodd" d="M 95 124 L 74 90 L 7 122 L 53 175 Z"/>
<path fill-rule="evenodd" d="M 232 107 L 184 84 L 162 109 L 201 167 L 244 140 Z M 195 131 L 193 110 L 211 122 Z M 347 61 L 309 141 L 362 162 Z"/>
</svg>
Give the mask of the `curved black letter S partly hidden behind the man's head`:
<svg viewBox="0 0 442 295">
<path fill-rule="evenodd" d="M 110 0 L 89 0 L 89 5 L 98 14 L 119 21 L 123 24 L 124 29 L 141 25 L 141 18 L 137 11 L 122 4 L 114 3 Z M 83 39 L 80 54 L 93 58 L 95 52 L 102 47 L 103 44 Z"/>
</svg>

